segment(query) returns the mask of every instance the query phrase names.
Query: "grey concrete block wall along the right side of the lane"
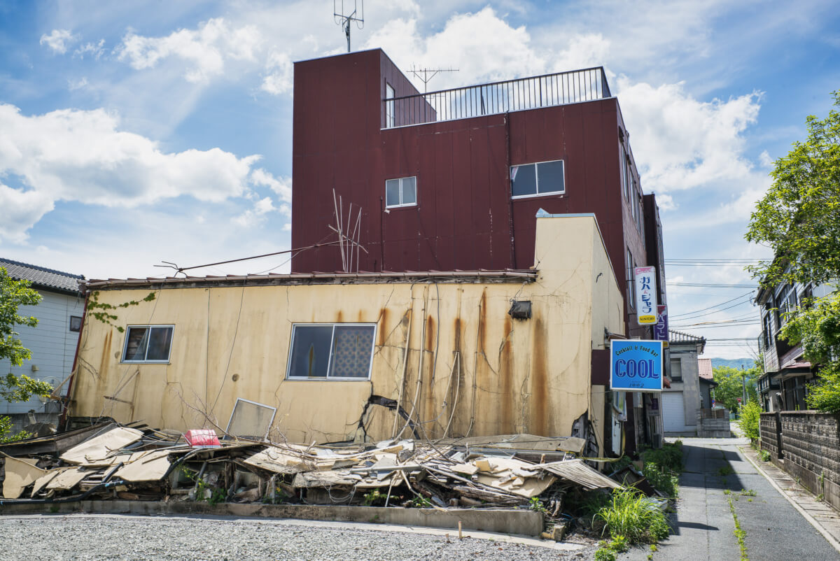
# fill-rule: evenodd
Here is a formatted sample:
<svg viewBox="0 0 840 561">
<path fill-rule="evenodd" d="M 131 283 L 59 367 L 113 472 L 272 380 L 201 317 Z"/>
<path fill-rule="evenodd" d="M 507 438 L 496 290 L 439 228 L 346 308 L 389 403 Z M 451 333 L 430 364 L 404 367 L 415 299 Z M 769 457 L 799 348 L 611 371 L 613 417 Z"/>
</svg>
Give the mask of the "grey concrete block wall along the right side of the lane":
<svg viewBox="0 0 840 561">
<path fill-rule="evenodd" d="M 798 411 L 781 412 L 779 418 L 782 458 L 774 449 L 776 421 L 768 414 L 761 416 L 762 448 L 814 495 L 840 508 L 840 415 Z"/>
</svg>

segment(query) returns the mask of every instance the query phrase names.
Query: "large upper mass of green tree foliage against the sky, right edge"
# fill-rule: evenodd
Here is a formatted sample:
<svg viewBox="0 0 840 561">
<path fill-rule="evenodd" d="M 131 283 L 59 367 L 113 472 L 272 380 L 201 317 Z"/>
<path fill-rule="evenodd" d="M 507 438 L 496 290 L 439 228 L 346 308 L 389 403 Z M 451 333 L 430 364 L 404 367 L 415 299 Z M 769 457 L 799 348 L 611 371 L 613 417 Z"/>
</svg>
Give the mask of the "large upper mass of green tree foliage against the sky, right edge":
<svg viewBox="0 0 840 561">
<path fill-rule="evenodd" d="M 840 90 L 832 93 L 840 108 Z M 775 259 L 751 268 L 764 286 L 840 277 L 840 111 L 807 118 L 808 138 L 775 161 L 773 184 L 749 220 L 746 238 Z"/>
</svg>

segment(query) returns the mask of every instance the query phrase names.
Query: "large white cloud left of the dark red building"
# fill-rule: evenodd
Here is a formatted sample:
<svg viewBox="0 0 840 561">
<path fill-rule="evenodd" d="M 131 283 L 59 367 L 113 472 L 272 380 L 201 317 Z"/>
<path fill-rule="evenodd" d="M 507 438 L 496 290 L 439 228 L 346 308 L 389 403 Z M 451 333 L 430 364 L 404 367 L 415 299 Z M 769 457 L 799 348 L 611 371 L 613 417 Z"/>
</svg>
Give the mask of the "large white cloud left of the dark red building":
<svg viewBox="0 0 840 561">
<path fill-rule="evenodd" d="M 0 104 L 0 130 L 0 176 L 11 174 L 21 184 L 0 190 L 0 207 L 11 209 L 0 231 L 8 239 L 23 239 L 56 201 L 136 207 L 180 196 L 207 202 L 242 197 L 260 159 L 218 148 L 167 153 L 120 130 L 118 117 L 102 109 L 27 117 Z M 258 178 L 280 183 L 267 172 Z"/>
</svg>

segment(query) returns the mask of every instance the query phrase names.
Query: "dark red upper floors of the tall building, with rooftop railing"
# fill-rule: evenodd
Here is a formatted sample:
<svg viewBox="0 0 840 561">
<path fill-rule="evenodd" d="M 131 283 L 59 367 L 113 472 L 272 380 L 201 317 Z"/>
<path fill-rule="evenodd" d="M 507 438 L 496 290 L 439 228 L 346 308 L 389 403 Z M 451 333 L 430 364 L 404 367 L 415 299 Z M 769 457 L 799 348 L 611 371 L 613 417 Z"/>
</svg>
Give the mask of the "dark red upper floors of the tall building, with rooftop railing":
<svg viewBox="0 0 840 561">
<path fill-rule="evenodd" d="M 358 218 L 365 248 L 351 270 L 528 268 L 540 208 L 595 213 L 625 296 L 633 265 L 648 265 L 638 171 L 601 68 L 421 94 L 382 50 L 297 62 L 292 145 L 292 247 L 336 239 L 334 190 L 345 223 L 361 209 L 344 228 Z M 291 261 L 343 266 L 337 246 Z"/>
</svg>

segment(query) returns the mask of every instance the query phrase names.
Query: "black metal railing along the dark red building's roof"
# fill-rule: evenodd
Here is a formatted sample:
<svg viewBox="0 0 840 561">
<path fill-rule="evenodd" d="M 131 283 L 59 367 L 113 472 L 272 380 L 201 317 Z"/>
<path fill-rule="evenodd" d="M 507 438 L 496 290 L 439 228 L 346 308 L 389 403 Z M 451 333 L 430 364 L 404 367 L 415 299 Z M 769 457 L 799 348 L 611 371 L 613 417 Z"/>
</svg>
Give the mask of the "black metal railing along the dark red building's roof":
<svg viewBox="0 0 840 561">
<path fill-rule="evenodd" d="M 603 66 L 382 100 L 382 128 L 454 121 L 612 97 Z"/>
</svg>

